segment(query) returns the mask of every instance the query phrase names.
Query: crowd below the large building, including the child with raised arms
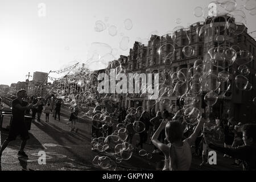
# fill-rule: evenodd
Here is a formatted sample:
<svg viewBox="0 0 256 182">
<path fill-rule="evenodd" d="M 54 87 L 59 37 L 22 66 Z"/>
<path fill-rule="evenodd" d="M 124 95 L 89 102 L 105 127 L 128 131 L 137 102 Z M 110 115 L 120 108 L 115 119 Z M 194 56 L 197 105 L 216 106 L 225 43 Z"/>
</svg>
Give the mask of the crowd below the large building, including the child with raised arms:
<svg viewBox="0 0 256 182">
<path fill-rule="evenodd" d="M 242 125 L 241 122 L 236 122 L 232 118 L 219 119 L 210 113 L 202 114 L 197 126 L 189 126 L 167 110 L 156 113 L 154 110 L 143 110 L 141 114 L 131 114 L 130 109 L 115 109 L 111 116 L 116 117 L 117 125 L 125 123 L 129 133 L 126 142 L 129 143 L 136 133 L 133 123 L 135 121 L 144 123 L 144 130 L 139 133 L 139 141 L 134 147 L 139 151 L 148 150 L 154 146 L 152 153 L 162 154 L 166 159 L 163 170 L 188 170 L 191 166 L 192 156 L 201 156 L 200 166 L 207 165 L 208 152 L 212 150 L 222 152 L 224 158 L 233 158 L 234 163 L 230 163 L 230 166 L 243 166 L 245 170 L 256 169 L 255 124 Z M 93 115 L 105 113 L 106 110 L 108 110 L 106 105 L 97 106 Z M 204 131 L 204 125 L 207 122 L 215 123 L 218 142 L 211 140 L 208 133 Z M 108 126 L 108 129 L 104 129 L 104 127 L 93 125 L 92 138 L 117 134 L 115 126 Z M 224 147 L 220 147 L 221 141 Z M 191 150 L 192 148 L 193 150 Z M 194 151 L 193 154 L 191 151 Z"/>
</svg>

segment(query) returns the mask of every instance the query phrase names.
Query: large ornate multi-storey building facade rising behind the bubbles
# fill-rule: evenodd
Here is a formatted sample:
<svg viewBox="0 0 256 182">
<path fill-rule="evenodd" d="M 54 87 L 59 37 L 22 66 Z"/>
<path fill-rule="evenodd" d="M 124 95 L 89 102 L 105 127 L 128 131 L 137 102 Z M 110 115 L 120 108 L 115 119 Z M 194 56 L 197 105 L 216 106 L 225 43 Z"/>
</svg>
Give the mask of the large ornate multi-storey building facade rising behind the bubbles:
<svg viewBox="0 0 256 182">
<path fill-rule="evenodd" d="M 200 107 L 202 112 L 210 110 L 219 118 L 234 117 L 240 122 L 255 121 L 256 106 L 252 100 L 256 97 L 256 42 L 248 34 L 246 27 L 238 26 L 236 30 L 228 27 L 233 21 L 229 16 L 210 17 L 205 22 L 194 23 L 189 28 L 181 28 L 166 36 L 152 35 L 147 46 L 135 42 L 133 48 L 130 49 L 129 56 L 120 56 L 118 60 L 112 61 L 105 69 L 105 73 L 108 74 L 111 68 L 117 68 L 118 72 L 121 68 L 126 73 L 159 73 L 159 96 L 162 97 L 160 100 L 151 100 L 147 94 L 119 94 L 119 106 L 126 109 L 143 106 L 147 110 L 163 111 L 166 109 L 175 113 L 181 109 L 179 97 L 170 96 L 165 92 L 168 86 L 174 86 L 170 73 L 183 68 L 188 71 L 192 70 L 195 61 L 200 59 L 204 63 L 202 66 L 204 72 L 228 71 L 230 85 L 228 90 L 224 89 L 226 85 L 220 86 L 218 92 L 225 90 L 225 93 L 218 95 L 217 103 L 213 107 L 205 105 L 204 95 L 207 89 L 203 88 L 203 92 L 197 96 L 199 100 L 197 107 Z M 252 85 L 251 90 L 250 88 L 247 91 L 237 89 L 235 78 L 239 74 L 236 72 L 240 64 L 236 61 L 229 67 L 216 65 L 221 64 L 220 61 L 210 66 L 206 65 L 210 62 L 208 51 L 213 47 L 231 47 L 236 51 L 247 50 L 253 55 L 253 60 L 246 64 L 250 69 L 247 79 Z M 172 104 L 175 107 L 171 107 Z"/>
</svg>

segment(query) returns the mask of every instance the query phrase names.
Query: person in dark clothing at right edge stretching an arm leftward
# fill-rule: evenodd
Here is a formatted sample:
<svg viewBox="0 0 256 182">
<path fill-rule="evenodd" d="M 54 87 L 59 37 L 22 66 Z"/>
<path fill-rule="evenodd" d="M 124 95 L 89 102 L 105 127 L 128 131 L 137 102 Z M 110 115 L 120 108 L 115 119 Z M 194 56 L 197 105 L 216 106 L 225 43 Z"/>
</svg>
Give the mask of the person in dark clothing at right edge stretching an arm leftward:
<svg viewBox="0 0 256 182">
<path fill-rule="evenodd" d="M 213 150 L 220 151 L 226 155 L 232 156 L 235 159 L 240 159 L 243 162 L 243 170 L 256 170 L 256 125 L 246 124 L 243 126 L 243 142 L 245 145 L 236 148 L 225 148 L 216 146 L 212 143 L 209 147 Z"/>
</svg>

